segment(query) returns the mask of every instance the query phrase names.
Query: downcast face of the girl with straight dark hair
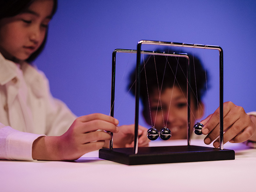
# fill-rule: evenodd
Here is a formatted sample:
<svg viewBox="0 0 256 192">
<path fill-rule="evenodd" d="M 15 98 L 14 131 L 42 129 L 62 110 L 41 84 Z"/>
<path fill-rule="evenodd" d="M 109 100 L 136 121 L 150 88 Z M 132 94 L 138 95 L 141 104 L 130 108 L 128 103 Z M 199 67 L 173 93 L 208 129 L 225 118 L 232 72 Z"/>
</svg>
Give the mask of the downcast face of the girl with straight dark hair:
<svg viewBox="0 0 256 192">
<path fill-rule="evenodd" d="M 28 10 L 0 20 L 0 52 L 9 60 L 27 60 L 43 43 L 52 0 L 36 0 Z"/>
</svg>

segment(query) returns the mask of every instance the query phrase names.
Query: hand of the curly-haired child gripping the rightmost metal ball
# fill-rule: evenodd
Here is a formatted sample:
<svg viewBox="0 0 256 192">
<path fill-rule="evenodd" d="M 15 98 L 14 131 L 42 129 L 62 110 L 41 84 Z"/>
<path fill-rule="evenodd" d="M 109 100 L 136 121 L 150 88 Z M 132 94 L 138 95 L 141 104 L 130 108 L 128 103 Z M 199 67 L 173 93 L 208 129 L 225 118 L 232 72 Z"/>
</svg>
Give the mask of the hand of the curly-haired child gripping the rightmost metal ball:
<svg viewBox="0 0 256 192">
<path fill-rule="evenodd" d="M 202 133 L 207 135 L 204 139 L 204 143 L 209 145 L 220 134 L 219 128 L 220 113 L 219 108 L 206 119 L 200 123 L 204 125 Z M 256 126 L 252 122 L 250 116 L 248 116 L 244 108 L 236 106 L 231 101 L 223 104 L 223 143 L 240 143 L 244 142 L 252 137 L 256 132 Z M 220 146 L 219 140 L 213 142 L 213 146 L 218 148 Z"/>
</svg>

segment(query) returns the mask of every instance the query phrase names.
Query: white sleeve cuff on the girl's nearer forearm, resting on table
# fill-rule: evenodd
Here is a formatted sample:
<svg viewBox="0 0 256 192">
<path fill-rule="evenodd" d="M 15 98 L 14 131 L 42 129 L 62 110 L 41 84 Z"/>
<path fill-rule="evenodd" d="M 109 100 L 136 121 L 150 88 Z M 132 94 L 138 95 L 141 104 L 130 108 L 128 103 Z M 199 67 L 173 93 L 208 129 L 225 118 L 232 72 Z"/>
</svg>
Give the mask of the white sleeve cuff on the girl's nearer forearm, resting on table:
<svg viewBox="0 0 256 192">
<path fill-rule="evenodd" d="M 44 135 L 20 132 L 0 123 L 0 159 L 34 161 L 33 142 Z"/>
</svg>

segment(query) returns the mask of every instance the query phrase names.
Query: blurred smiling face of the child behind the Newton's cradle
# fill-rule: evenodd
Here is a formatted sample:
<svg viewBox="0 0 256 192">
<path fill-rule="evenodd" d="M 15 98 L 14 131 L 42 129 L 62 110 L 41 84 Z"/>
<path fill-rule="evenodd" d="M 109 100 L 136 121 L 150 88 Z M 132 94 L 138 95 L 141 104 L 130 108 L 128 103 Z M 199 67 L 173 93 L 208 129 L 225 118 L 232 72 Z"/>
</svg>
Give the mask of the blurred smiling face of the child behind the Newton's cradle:
<svg viewBox="0 0 256 192">
<path fill-rule="evenodd" d="M 172 99 L 171 99 L 172 98 Z M 149 103 L 151 110 L 151 118 L 153 125 L 157 130 L 161 130 L 166 125 L 172 132 L 172 139 L 186 139 L 187 138 L 187 94 L 183 93 L 179 87 L 174 86 L 172 88 L 166 88 L 161 92 L 161 103 L 159 101 L 158 89 L 149 95 Z M 197 106 L 194 104 L 194 99 L 191 98 L 191 130 L 196 121 L 196 118 L 200 118 L 203 113 L 203 109 L 197 110 Z M 158 105 L 158 107 L 157 107 Z M 169 110 L 170 108 L 170 110 Z M 157 113 L 156 113 L 157 110 Z M 169 112 L 169 115 L 168 115 Z M 149 112 L 144 112 L 145 119 L 148 124 L 151 125 Z"/>
</svg>

